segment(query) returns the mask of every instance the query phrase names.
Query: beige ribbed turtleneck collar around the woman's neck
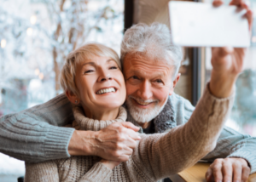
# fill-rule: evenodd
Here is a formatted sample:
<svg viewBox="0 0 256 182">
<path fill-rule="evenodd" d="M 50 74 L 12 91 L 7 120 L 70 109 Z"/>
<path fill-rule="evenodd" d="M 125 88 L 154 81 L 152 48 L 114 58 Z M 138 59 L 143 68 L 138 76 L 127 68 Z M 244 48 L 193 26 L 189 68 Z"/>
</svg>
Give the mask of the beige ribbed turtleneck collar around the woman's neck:
<svg viewBox="0 0 256 182">
<path fill-rule="evenodd" d="M 81 106 L 73 106 L 73 116 L 75 121 L 73 122 L 73 128 L 80 129 L 80 130 L 90 130 L 90 131 L 99 131 L 102 128 L 108 127 L 108 125 L 112 124 L 113 122 L 125 122 L 127 117 L 127 112 L 125 108 L 120 106 L 119 107 L 119 116 L 113 120 L 95 120 L 88 117 L 85 117 L 84 110 Z"/>
</svg>

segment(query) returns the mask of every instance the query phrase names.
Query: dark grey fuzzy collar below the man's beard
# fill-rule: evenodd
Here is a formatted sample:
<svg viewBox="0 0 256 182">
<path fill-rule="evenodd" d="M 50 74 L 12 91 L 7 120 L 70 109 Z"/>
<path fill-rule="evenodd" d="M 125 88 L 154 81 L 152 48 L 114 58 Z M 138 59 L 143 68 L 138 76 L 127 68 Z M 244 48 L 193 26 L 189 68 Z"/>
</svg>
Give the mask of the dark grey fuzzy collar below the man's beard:
<svg viewBox="0 0 256 182">
<path fill-rule="evenodd" d="M 175 128 L 177 123 L 175 121 L 175 111 L 172 105 L 171 97 L 168 97 L 166 105 L 162 111 L 160 111 L 159 115 L 154 118 L 152 122 L 154 122 L 155 133 L 164 133 L 167 129 Z M 126 108 L 126 107 L 125 107 Z M 132 122 L 134 125 L 140 127 L 131 117 L 131 114 L 128 111 L 127 121 Z M 139 130 L 140 133 L 143 133 L 143 128 Z"/>
</svg>

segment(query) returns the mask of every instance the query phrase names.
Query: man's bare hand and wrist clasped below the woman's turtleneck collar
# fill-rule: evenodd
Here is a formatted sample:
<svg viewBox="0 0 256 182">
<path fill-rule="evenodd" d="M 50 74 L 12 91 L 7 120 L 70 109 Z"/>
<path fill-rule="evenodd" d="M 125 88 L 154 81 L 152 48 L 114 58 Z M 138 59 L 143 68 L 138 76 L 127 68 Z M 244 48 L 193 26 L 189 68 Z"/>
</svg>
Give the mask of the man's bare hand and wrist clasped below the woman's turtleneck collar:
<svg viewBox="0 0 256 182">
<path fill-rule="evenodd" d="M 131 122 L 115 122 L 100 131 L 76 130 L 68 145 L 72 156 L 101 156 L 103 159 L 125 162 L 136 147 L 138 127 Z"/>
</svg>

